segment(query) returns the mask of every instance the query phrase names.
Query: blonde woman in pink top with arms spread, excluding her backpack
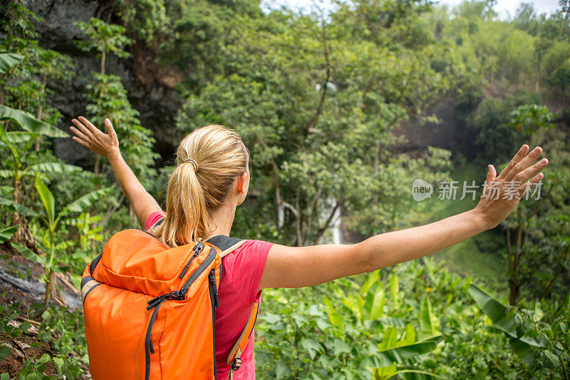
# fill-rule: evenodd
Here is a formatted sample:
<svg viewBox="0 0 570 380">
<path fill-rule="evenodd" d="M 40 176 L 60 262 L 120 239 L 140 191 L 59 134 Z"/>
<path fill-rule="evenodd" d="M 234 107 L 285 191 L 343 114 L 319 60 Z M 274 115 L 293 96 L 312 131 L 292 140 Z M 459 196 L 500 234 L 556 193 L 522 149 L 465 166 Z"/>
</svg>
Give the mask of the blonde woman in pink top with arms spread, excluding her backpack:
<svg viewBox="0 0 570 380">
<path fill-rule="evenodd" d="M 110 120 L 105 119 L 107 134 L 83 117 L 74 119 L 73 124 L 73 140 L 108 158 L 145 230 L 171 247 L 215 235 L 229 236 L 236 207 L 244 202 L 249 188 L 249 155 L 237 133 L 221 125 L 208 125 L 182 140 L 177 167 L 168 181 L 164 213 L 121 157 Z M 263 289 L 307 287 L 372 272 L 430 255 L 495 227 L 512 212 L 524 191 L 543 178 L 539 171 L 548 160 L 535 163 L 541 151 L 537 147 L 529 153 L 529 146 L 523 145 L 498 177 L 489 165 L 487 184 L 492 184 L 493 196 L 482 197 L 473 210 L 430 225 L 376 235 L 355 245 L 285 247 L 247 240 L 223 259 L 215 320 L 218 379 L 228 376 L 227 354 Z M 517 195 L 503 199 L 509 181 L 514 181 L 509 184 L 509 194 L 515 184 Z M 253 345 L 250 339 L 235 379 L 255 378 Z"/>
</svg>

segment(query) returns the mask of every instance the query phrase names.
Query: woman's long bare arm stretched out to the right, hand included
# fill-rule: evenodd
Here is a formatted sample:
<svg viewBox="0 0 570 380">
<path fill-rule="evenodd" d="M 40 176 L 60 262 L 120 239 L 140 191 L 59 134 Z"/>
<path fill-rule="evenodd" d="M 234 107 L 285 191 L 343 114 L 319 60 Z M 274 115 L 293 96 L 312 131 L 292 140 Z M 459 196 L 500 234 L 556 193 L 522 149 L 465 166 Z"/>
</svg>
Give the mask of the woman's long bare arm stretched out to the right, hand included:
<svg viewBox="0 0 570 380">
<path fill-rule="evenodd" d="M 489 196 L 489 192 L 484 194 L 473 210 L 429 225 L 376 235 L 355 245 L 272 246 L 259 290 L 308 287 L 372 272 L 430 255 L 499 225 L 517 206 L 525 190 L 543 178 L 539 171 L 548 160 L 544 158 L 534 163 L 542 149 L 534 148 L 527 155 L 528 150 L 529 146 L 523 145 L 498 177 L 493 165 L 489 165 L 486 188 L 492 186 L 493 196 Z M 503 197 L 507 187 L 509 194 L 513 189 L 517 190 L 516 196 Z"/>
</svg>

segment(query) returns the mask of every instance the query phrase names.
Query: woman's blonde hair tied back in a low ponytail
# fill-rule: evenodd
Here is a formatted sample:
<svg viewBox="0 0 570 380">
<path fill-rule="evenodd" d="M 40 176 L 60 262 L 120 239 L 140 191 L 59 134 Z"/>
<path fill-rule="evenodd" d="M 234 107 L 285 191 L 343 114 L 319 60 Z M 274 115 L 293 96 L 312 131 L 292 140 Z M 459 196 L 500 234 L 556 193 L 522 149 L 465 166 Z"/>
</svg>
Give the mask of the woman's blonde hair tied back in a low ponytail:
<svg viewBox="0 0 570 380">
<path fill-rule="evenodd" d="M 170 247 L 205 239 L 214 230 L 210 213 L 222 205 L 249 162 L 242 138 L 223 125 L 194 130 L 182 139 L 176 156 L 165 220 L 150 230 Z"/>
</svg>

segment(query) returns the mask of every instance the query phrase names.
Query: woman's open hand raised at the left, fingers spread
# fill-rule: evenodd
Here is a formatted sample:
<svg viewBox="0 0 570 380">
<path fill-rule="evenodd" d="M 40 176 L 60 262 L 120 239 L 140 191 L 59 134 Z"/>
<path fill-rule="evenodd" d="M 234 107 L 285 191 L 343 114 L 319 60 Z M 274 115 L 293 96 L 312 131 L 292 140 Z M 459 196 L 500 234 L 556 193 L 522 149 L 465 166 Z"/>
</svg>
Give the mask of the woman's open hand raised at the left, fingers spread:
<svg viewBox="0 0 570 380">
<path fill-rule="evenodd" d="M 93 150 L 93 152 L 103 155 L 109 159 L 112 155 L 120 154 L 119 140 L 117 133 L 113 129 L 111 120 L 105 119 L 105 126 L 108 133 L 103 133 L 99 128 L 95 127 L 93 123 L 79 116 L 77 119 L 71 120 L 75 127 L 70 127 L 71 132 L 75 133 L 73 140 L 84 147 Z"/>
</svg>

